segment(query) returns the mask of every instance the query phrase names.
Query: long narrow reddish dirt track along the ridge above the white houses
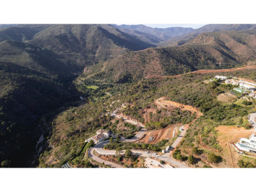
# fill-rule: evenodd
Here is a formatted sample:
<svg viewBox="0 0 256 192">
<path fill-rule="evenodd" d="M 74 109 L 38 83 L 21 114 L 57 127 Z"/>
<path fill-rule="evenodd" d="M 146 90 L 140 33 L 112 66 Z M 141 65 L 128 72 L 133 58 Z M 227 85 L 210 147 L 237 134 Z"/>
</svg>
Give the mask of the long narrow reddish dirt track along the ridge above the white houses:
<svg viewBox="0 0 256 192">
<path fill-rule="evenodd" d="M 188 72 L 186 74 L 209 74 L 209 73 L 213 73 L 213 72 L 232 72 L 232 71 L 236 71 L 236 70 L 244 70 L 244 69 L 252 69 L 252 68 L 256 68 L 256 65 L 247 66 L 247 67 L 239 67 L 239 68 L 202 69 L 202 70 L 195 70 L 193 72 Z M 176 75 L 176 76 L 147 76 L 145 78 L 146 79 L 150 79 L 150 78 L 164 79 L 164 78 L 171 78 L 171 77 L 180 77 L 180 76 L 183 76 L 183 75 L 184 74 L 180 74 L 180 75 Z"/>
</svg>

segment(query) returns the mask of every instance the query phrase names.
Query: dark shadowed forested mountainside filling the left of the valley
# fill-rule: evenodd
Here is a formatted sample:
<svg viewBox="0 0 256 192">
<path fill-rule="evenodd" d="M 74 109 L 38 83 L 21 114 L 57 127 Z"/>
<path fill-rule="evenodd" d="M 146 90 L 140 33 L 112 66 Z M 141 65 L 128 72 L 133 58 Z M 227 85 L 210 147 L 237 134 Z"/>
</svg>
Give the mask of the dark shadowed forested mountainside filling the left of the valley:
<svg viewBox="0 0 256 192">
<path fill-rule="evenodd" d="M 86 65 L 151 46 L 108 25 L 0 29 L 1 166 L 30 166 L 42 134 L 36 122 L 79 100 L 73 81 Z"/>
</svg>

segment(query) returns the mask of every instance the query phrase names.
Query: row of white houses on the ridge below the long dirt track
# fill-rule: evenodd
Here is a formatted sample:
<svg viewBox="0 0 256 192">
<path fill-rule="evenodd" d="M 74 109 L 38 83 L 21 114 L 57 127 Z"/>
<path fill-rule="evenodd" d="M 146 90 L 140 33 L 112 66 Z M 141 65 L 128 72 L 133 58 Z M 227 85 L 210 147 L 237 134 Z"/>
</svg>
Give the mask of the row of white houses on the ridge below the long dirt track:
<svg viewBox="0 0 256 192">
<path fill-rule="evenodd" d="M 253 99 L 256 99 L 255 83 L 250 83 L 241 79 L 228 78 L 226 76 L 215 76 L 214 79 L 220 79 L 221 81 L 225 81 L 226 84 L 239 86 L 239 88 L 234 88 L 236 92 L 242 93 L 243 95 L 248 95 Z"/>
</svg>

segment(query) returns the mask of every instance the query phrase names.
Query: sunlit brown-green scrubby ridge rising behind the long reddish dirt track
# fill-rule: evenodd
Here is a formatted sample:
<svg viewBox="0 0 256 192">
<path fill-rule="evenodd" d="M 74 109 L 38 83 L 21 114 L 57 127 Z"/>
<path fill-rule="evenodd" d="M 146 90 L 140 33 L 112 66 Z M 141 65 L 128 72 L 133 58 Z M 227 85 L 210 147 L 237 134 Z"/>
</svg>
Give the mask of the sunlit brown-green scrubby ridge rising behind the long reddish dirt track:
<svg viewBox="0 0 256 192">
<path fill-rule="evenodd" d="M 244 63 L 254 65 L 255 39 L 255 30 L 202 33 L 182 46 L 129 52 L 87 67 L 86 72 L 93 79 L 124 83 L 150 75 L 170 76 L 200 69 L 239 67 Z"/>
</svg>

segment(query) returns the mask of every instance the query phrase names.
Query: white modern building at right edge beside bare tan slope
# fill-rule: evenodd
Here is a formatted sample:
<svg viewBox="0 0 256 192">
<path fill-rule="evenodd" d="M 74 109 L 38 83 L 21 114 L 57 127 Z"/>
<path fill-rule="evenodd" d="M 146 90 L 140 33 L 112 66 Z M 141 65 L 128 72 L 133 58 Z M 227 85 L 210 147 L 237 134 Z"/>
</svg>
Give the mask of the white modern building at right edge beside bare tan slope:
<svg viewBox="0 0 256 192">
<path fill-rule="evenodd" d="M 255 136 L 255 134 L 253 133 L 249 139 L 241 138 L 240 142 L 236 143 L 236 147 L 239 148 L 239 150 L 256 153 L 256 136 Z"/>
</svg>

